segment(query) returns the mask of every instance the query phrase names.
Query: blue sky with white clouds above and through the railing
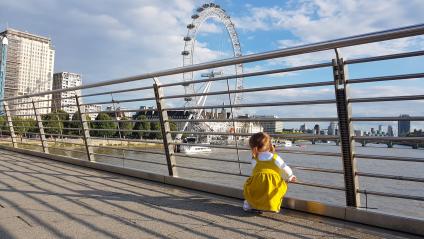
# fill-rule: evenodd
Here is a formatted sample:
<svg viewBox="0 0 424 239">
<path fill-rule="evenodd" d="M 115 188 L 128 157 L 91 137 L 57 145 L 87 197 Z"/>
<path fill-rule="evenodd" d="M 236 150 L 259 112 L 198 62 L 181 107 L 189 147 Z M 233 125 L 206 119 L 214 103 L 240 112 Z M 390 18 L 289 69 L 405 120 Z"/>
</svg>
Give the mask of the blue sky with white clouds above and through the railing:
<svg viewBox="0 0 424 239">
<path fill-rule="evenodd" d="M 186 25 L 197 6 L 192 0 L 2 0 L 0 28 L 51 37 L 56 49 L 55 72 L 80 73 L 84 83 L 137 75 L 182 65 L 180 52 Z M 243 54 L 270 51 L 306 43 L 325 41 L 361 33 L 424 23 L 421 0 L 311 0 L 311 1 L 215 1 L 226 9 L 235 23 Z M 346 58 L 422 50 L 424 38 L 415 37 L 342 49 Z M 231 55 L 222 25 L 208 21 L 198 35 L 197 61 L 216 60 Z M 201 57 L 200 57 L 201 56 Z M 329 61 L 333 52 L 307 54 L 245 65 L 245 71 L 275 69 Z M 350 78 L 423 72 L 424 58 L 355 65 Z M 177 79 L 176 79 L 177 78 Z M 180 80 L 173 77 L 167 80 Z M 297 72 L 273 77 L 245 79 L 245 88 L 331 80 L 329 69 Z M 130 84 L 132 86 L 134 84 Z M 128 87 L 128 85 L 127 85 Z M 215 89 L 220 86 L 216 85 Z M 423 79 L 366 84 L 351 89 L 353 97 L 409 95 L 424 93 Z M 182 89 L 174 89 L 179 92 Z M 331 87 L 271 91 L 246 94 L 245 102 L 334 98 Z M 264 95 L 265 94 L 265 95 Z M 124 96 L 116 96 L 124 97 Z M 129 97 L 129 95 L 126 95 Z M 224 101 L 211 98 L 210 104 Z M 100 99 L 93 99 L 101 101 Z M 169 104 L 178 106 L 181 102 Z M 128 107 L 134 107 L 128 105 Z M 243 113 L 276 114 L 280 117 L 334 116 L 334 107 L 286 107 L 247 109 Z M 424 102 L 354 105 L 357 116 L 424 115 Z M 301 123 L 301 122 L 300 122 Z M 299 123 L 299 124 L 300 124 Z M 295 127 L 299 124 L 287 124 Z M 312 126 L 313 123 L 310 125 Z M 395 122 L 384 123 L 395 125 Z M 358 128 L 376 127 L 361 124 Z M 395 127 L 396 128 L 396 127 Z M 412 128 L 424 128 L 413 122 Z"/>
</svg>

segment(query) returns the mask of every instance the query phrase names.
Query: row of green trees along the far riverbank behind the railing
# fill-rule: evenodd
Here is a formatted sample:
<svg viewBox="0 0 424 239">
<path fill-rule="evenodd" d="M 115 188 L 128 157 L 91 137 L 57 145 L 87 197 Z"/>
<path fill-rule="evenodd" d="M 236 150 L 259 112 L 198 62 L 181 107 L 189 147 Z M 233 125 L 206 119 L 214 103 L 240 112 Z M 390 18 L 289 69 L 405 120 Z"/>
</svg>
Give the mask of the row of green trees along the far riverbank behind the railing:
<svg viewBox="0 0 424 239">
<path fill-rule="evenodd" d="M 136 115 L 133 118 L 121 117 L 115 121 L 114 117 L 107 113 L 99 113 L 94 121 L 86 116 L 90 135 L 105 138 L 144 138 L 162 139 L 159 122 L 150 122 L 145 115 Z M 70 120 L 69 114 L 63 110 L 42 115 L 44 132 L 48 137 L 60 137 L 60 135 L 82 135 L 82 124 L 80 114 L 76 113 Z M 132 121 L 134 120 L 134 121 Z M 39 133 L 37 122 L 32 118 L 12 117 L 14 131 L 20 136 L 31 136 Z M 175 123 L 170 122 L 172 131 L 177 130 Z M 144 132 L 144 131 L 159 132 Z M 9 134 L 9 126 L 4 116 L 0 116 L 0 133 Z"/>
</svg>

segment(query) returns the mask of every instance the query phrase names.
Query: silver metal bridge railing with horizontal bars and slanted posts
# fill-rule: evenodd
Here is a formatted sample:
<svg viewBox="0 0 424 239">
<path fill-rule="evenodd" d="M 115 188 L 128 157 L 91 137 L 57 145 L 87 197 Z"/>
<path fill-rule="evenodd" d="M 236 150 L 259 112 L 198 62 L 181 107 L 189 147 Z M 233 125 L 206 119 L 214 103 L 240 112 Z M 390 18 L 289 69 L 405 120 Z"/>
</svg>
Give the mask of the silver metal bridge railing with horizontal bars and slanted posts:
<svg viewBox="0 0 424 239">
<path fill-rule="evenodd" d="M 5 116 L 5 122 L 1 125 L 1 132 L 4 137 L 0 142 L 7 142 L 11 147 L 24 147 L 31 150 L 38 150 L 48 154 L 61 154 L 69 157 L 82 158 L 91 162 L 110 163 L 123 167 L 135 167 L 134 163 L 145 163 L 143 165 L 157 165 L 155 170 L 166 173 L 170 176 L 179 175 L 179 170 L 207 172 L 217 175 L 231 175 L 244 180 L 249 173 L 243 165 L 249 164 L 245 160 L 235 160 L 225 157 L 209 157 L 205 155 L 186 155 L 178 153 L 175 149 L 179 145 L 204 146 L 196 143 L 182 143 L 175 140 L 176 134 L 194 134 L 194 135 L 216 135 L 233 137 L 235 144 L 230 145 L 208 145 L 213 149 L 248 151 L 249 148 L 242 143 L 240 138 L 248 137 L 252 133 L 241 132 L 197 132 L 181 131 L 176 129 L 175 124 L 192 124 L 199 122 L 331 122 L 337 121 L 340 129 L 339 135 L 311 135 L 311 134 L 277 134 L 271 136 L 277 139 L 286 139 L 291 141 L 309 140 L 312 142 L 318 140 L 334 141 L 339 145 L 337 152 L 320 152 L 308 150 L 285 149 L 279 152 L 285 155 L 309 155 L 322 157 L 336 157 L 340 159 L 341 168 L 314 167 L 309 165 L 299 165 L 293 162 L 293 168 L 298 171 L 304 171 L 310 174 L 324 173 L 343 176 L 343 184 L 330 184 L 314 181 L 300 180 L 296 183 L 299 187 L 323 188 L 329 190 L 342 191 L 345 193 L 345 205 L 349 207 L 363 207 L 361 203 L 361 194 L 401 198 L 405 200 L 424 201 L 421 195 L 407 195 L 402 193 L 389 193 L 376 190 L 367 190 L 360 187 L 359 177 L 378 178 L 387 180 L 397 180 L 404 182 L 423 183 L 424 178 L 411 177 L 408 175 L 389 175 L 362 172 L 358 170 L 358 160 L 385 160 L 399 161 L 402 163 L 424 163 L 424 158 L 368 155 L 355 153 L 355 142 L 380 140 L 380 141 L 401 141 L 411 144 L 423 145 L 423 137 L 368 137 L 355 136 L 353 129 L 355 122 L 376 122 L 376 121 L 398 121 L 404 120 L 397 116 L 373 116 L 373 117 L 354 117 L 351 108 L 356 104 L 369 102 L 393 102 L 393 101 L 413 101 L 424 100 L 424 95 L 399 95 L 387 97 L 363 97 L 351 98 L 349 87 L 351 85 L 364 83 L 379 83 L 386 81 L 403 81 L 407 79 L 423 78 L 424 73 L 410 73 L 400 75 L 378 76 L 348 79 L 347 68 L 354 64 L 365 64 L 371 62 L 382 62 L 386 60 L 419 57 L 424 55 L 424 51 L 411 51 L 405 53 L 389 54 L 382 56 L 366 57 L 359 59 L 344 60 L 339 52 L 339 48 L 352 47 L 361 44 L 369 44 L 386 40 L 399 39 L 404 37 L 420 36 L 424 34 L 424 25 L 415 25 L 394 30 L 364 34 L 359 36 L 347 37 L 332 41 L 308 44 L 303 46 L 291 47 L 277 51 L 247 55 L 237 58 L 225 59 L 220 61 L 202 63 L 192 66 L 169 69 L 149 74 L 142 74 L 133 77 L 127 77 L 95 84 L 88 84 L 68 89 L 53 90 L 49 92 L 40 92 L 30 95 L 13 97 L 2 100 Z M 193 80 L 191 82 L 167 82 L 161 84 L 161 78 L 172 76 L 181 78 L 181 74 L 186 72 L 198 72 L 200 70 L 213 69 L 217 67 L 229 66 L 234 64 L 243 64 L 249 62 L 260 62 L 270 59 L 296 56 L 305 53 L 321 52 L 326 50 L 335 50 L 334 58 L 331 61 L 319 64 L 310 64 L 289 68 L 279 68 L 266 71 L 257 71 L 244 73 L 242 75 L 222 76 L 211 79 Z M 276 85 L 253 87 L 242 90 L 219 90 L 207 93 L 181 94 L 172 90 L 182 87 L 186 84 L 200 84 L 205 82 L 225 82 L 236 78 L 251 78 L 257 76 L 271 76 L 288 72 L 303 72 L 306 70 L 327 69 L 332 72 L 328 75 L 328 81 L 283 84 L 283 81 L 275 81 Z M 131 82 L 131 85 L 128 83 Z M 109 88 L 107 88 L 108 86 Z M 110 87 L 113 87 L 111 89 Z M 236 93 L 266 93 L 269 91 L 280 91 L 288 89 L 305 89 L 317 87 L 331 87 L 334 94 L 328 99 L 311 99 L 298 101 L 279 101 L 273 99 L 269 102 L 252 102 L 241 104 L 209 104 L 205 106 L 182 107 L 178 103 L 185 97 L 195 96 L 222 96 Z M 78 95 L 77 90 L 90 91 Z M 74 103 L 56 105 L 57 99 L 53 99 L 53 93 L 73 92 L 74 96 L 66 97 L 73 100 Z M 108 97 L 110 96 L 110 99 Z M 130 96 L 130 98 L 129 98 Z M 43 98 L 40 98 L 43 97 Z M 48 100 L 46 100 L 46 98 Z M 41 100 L 40 100 L 41 99 Z M 65 99 L 65 98 L 63 98 Z M 43 104 L 40 104 L 43 103 Z M 45 103 L 48 105 L 45 106 Z M 109 109 L 86 111 L 90 105 L 110 105 Z M 120 108 L 120 106 L 126 108 Z M 149 108 L 139 108 L 139 106 Z M 181 104 L 182 105 L 182 104 Z M 168 112 L 171 111 L 192 111 L 197 109 L 244 109 L 269 107 L 295 107 L 326 105 L 337 110 L 337 116 L 332 117 L 277 117 L 277 118 L 213 118 L 213 119 L 187 119 L 170 118 Z M 69 113 L 63 111 L 51 111 L 50 108 L 60 109 L 63 107 L 76 107 L 72 112 L 72 118 Z M 153 112 L 153 113 L 152 113 Z M 126 114 L 135 114 L 135 116 L 126 116 Z M 150 118 L 146 113 L 151 113 Z M 96 115 L 96 118 L 90 116 Z M 102 115 L 100 117 L 99 115 Z M 424 121 L 424 116 L 412 116 L 408 120 Z M 1 122 L 0 122 L 1 123 Z M 73 154 L 78 153 L 78 154 Z M 144 155 L 144 156 L 139 156 Z M 107 160 L 106 160 L 107 158 Z M 199 162 L 212 162 L 212 166 L 199 166 L 194 162 L 184 164 L 184 159 L 199 160 Z M 119 161 L 121 160 L 121 161 Z M 119 162 L 118 162 L 119 161 Z M 179 163 L 181 162 L 181 163 Z M 238 170 L 233 166 L 228 166 L 228 170 L 219 170 L 215 166 L 228 163 L 229 165 L 238 165 Z M 126 164 L 126 165 L 125 165 Z M 147 167 L 147 166 L 146 166 Z M 150 168 L 138 168 L 150 170 Z M 220 177 L 220 176 L 216 176 Z"/>
</svg>

